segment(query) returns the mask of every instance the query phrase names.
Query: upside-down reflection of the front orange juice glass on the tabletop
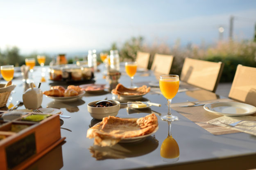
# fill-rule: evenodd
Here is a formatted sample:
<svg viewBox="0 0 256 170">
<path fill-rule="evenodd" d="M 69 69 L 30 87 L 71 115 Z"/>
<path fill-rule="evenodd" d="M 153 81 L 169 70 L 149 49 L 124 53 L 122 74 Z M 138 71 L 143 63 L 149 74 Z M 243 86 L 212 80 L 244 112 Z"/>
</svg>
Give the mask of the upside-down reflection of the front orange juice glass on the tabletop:
<svg viewBox="0 0 256 170">
<path fill-rule="evenodd" d="M 171 134 L 171 121 L 168 121 L 168 136 L 160 148 L 160 155 L 165 162 L 176 162 L 179 160 L 179 145 Z"/>
</svg>

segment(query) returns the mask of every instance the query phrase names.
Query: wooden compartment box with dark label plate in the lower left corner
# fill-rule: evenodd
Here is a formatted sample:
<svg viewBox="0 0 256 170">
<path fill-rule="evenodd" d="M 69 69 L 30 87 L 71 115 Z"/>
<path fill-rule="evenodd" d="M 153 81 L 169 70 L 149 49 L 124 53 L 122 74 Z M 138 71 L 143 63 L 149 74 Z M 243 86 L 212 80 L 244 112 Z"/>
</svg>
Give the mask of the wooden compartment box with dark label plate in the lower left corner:
<svg viewBox="0 0 256 170">
<path fill-rule="evenodd" d="M 0 138 L 4 139 L 0 140 L 0 170 L 24 169 L 65 139 L 61 138 L 57 114 L 40 122 L 23 121 L 20 118 L 7 123 L 1 121 L 1 124 Z M 24 129 L 11 132 L 15 125 Z"/>
</svg>

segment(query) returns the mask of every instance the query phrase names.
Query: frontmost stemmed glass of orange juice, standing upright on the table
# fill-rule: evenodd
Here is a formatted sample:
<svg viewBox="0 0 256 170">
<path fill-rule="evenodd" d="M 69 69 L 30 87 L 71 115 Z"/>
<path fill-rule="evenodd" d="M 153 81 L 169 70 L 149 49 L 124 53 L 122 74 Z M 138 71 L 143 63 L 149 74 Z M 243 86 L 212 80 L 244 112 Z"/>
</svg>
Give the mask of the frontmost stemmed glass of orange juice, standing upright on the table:
<svg viewBox="0 0 256 170">
<path fill-rule="evenodd" d="M 179 76 L 178 75 L 163 75 L 160 76 L 159 87 L 161 93 L 168 101 L 168 114 L 162 116 L 163 121 L 177 121 L 178 117 L 171 114 L 172 98 L 177 94 L 179 89 Z"/>
</svg>

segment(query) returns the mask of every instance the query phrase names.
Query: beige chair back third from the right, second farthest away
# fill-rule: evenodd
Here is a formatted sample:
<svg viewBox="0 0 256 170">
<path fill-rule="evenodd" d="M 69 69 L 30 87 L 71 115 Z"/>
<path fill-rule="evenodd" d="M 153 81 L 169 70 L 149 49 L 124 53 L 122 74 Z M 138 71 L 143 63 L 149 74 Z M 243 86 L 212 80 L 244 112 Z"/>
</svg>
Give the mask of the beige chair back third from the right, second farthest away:
<svg viewBox="0 0 256 170">
<path fill-rule="evenodd" d="M 170 74 L 172 61 L 173 56 L 171 55 L 155 54 L 151 70 L 161 75 Z"/>
</svg>

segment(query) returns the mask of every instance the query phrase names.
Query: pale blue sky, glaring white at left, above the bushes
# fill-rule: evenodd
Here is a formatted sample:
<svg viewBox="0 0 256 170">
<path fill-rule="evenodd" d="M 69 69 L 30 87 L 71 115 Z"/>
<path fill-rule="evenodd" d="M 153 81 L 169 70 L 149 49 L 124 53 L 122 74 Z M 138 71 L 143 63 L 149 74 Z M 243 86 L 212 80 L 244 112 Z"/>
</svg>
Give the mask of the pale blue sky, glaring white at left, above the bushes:
<svg viewBox="0 0 256 170">
<path fill-rule="evenodd" d="M 218 27 L 234 38 L 251 39 L 256 0 L 0 0 L 0 49 L 22 53 L 76 52 L 119 46 L 131 36 L 145 43 L 213 44 Z"/>
</svg>

